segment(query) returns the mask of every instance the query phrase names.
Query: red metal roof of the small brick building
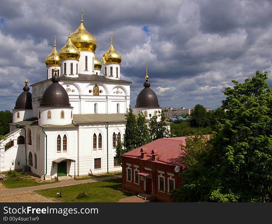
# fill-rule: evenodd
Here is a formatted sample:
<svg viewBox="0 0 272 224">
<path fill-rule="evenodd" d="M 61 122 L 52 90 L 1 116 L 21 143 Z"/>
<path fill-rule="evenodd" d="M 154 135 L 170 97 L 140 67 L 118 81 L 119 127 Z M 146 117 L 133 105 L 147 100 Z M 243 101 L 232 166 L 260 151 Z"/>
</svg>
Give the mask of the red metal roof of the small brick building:
<svg viewBox="0 0 272 224">
<path fill-rule="evenodd" d="M 194 137 L 194 136 L 192 136 Z M 206 137 L 210 137 L 206 135 Z M 141 147 L 131 150 L 130 152 L 122 154 L 125 157 L 141 159 L 140 150 L 147 151 L 147 156 L 142 158 L 142 160 L 152 161 L 152 149 L 154 152 L 159 153 L 159 158 L 154 162 L 172 164 L 174 166 L 182 166 L 181 158 L 184 153 L 181 150 L 181 144 L 186 145 L 185 142 L 186 136 L 184 137 L 175 137 L 175 138 L 160 138 Z"/>
</svg>

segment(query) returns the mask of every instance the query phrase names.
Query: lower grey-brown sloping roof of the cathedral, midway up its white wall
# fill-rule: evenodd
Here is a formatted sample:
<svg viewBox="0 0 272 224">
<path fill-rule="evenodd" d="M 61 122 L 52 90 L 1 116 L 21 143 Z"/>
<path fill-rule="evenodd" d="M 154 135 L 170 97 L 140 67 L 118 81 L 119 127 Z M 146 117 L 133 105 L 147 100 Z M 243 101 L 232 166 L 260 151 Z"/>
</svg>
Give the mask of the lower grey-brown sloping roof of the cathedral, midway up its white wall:
<svg viewBox="0 0 272 224">
<path fill-rule="evenodd" d="M 125 114 L 73 114 L 73 123 L 124 122 Z"/>
</svg>

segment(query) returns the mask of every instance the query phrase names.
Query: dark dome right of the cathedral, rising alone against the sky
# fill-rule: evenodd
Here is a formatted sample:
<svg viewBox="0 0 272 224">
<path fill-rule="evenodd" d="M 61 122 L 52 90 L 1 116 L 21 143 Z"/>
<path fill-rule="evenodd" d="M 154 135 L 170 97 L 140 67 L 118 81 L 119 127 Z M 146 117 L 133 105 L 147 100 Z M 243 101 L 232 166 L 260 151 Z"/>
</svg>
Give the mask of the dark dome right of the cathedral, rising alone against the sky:
<svg viewBox="0 0 272 224">
<path fill-rule="evenodd" d="M 135 107 L 159 107 L 156 93 L 149 88 L 150 83 L 146 81 L 143 86 L 145 88 L 138 94 Z"/>
</svg>

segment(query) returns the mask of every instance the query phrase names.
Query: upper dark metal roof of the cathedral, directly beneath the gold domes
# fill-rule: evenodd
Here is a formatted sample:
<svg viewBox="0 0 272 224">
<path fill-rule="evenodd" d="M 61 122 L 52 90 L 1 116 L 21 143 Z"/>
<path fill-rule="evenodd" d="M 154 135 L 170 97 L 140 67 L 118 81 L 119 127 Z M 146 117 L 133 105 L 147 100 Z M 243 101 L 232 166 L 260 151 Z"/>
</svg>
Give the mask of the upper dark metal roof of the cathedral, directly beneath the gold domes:
<svg viewBox="0 0 272 224">
<path fill-rule="evenodd" d="M 108 79 L 108 78 L 106 78 L 106 77 L 104 77 L 102 75 L 95 75 L 95 74 L 92 74 L 92 75 L 79 74 L 79 77 L 68 77 L 68 76 L 65 76 L 65 75 L 61 75 L 61 76 L 59 76 L 59 78 L 60 78 L 60 80 L 79 80 L 79 81 L 100 81 L 100 82 L 132 83 L 130 81 L 121 80 L 121 79 L 118 79 L 118 80 Z M 46 80 L 48 80 L 48 79 L 46 79 Z M 34 84 L 30 85 L 30 86 L 33 86 L 35 84 L 44 82 L 46 80 L 34 83 Z"/>
</svg>

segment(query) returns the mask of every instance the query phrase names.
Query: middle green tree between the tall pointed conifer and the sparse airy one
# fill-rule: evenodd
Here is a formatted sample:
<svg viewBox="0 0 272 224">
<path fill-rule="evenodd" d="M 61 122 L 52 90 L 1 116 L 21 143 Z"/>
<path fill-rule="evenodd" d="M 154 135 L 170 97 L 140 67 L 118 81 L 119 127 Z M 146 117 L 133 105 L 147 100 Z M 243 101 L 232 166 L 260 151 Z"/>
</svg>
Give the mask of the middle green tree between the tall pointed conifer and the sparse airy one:
<svg viewBox="0 0 272 224">
<path fill-rule="evenodd" d="M 137 136 L 136 148 L 152 141 L 147 124 L 146 124 L 146 118 L 142 111 L 139 111 L 138 113 L 137 130 L 138 130 L 138 136 Z"/>
</svg>

